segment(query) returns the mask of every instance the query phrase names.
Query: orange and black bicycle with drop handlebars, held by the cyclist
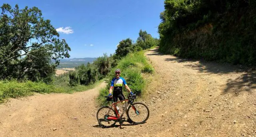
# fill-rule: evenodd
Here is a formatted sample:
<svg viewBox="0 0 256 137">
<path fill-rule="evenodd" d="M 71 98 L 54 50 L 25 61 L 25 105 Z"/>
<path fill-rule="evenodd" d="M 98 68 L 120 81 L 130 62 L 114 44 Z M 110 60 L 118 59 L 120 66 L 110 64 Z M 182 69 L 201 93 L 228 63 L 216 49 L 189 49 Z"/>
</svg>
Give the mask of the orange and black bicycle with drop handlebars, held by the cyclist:
<svg viewBox="0 0 256 137">
<path fill-rule="evenodd" d="M 105 97 L 108 97 L 108 96 L 105 96 Z M 124 112 L 126 112 L 127 117 L 128 117 L 128 119 L 130 119 L 132 124 L 136 125 L 136 124 L 145 123 L 149 117 L 148 106 L 141 102 L 133 103 L 134 99 L 136 99 L 136 94 L 128 96 L 128 99 L 124 99 L 124 100 L 117 101 L 117 102 L 113 102 L 113 99 L 111 99 L 112 104 L 110 104 L 110 106 L 103 106 L 100 109 L 98 109 L 98 111 L 97 111 L 96 117 L 99 122 L 99 125 L 102 126 L 103 128 L 104 127 L 113 127 L 116 124 L 116 122 L 119 122 L 120 128 L 121 128 L 122 123 L 124 123 L 124 121 L 125 121 L 125 117 L 123 117 Z M 110 98 L 108 97 L 107 100 L 109 101 Z M 124 104 L 123 104 L 124 110 L 123 110 L 122 114 L 120 115 L 118 113 L 118 110 L 116 109 L 116 104 L 121 103 L 121 102 L 124 102 Z M 132 111 L 129 111 L 130 108 L 132 108 L 133 110 L 131 109 Z M 104 117 L 99 118 L 99 114 L 102 114 L 102 113 L 100 113 L 100 111 L 102 111 L 103 109 L 106 109 L 105 113 L 103 113 Z M 145 109 L 145 111 L 144 111 L 144 109 Z M 136 119 L 139 119 L 138 116 L 146 116 L 146 117 L 143 118 L 142 120 L 136 120 Z M 112 122 L 112 123 L 110 123 L 110 122 Z M 110 124 L 110 125 L 107 125 L 107 124 Z"/>
</svg>

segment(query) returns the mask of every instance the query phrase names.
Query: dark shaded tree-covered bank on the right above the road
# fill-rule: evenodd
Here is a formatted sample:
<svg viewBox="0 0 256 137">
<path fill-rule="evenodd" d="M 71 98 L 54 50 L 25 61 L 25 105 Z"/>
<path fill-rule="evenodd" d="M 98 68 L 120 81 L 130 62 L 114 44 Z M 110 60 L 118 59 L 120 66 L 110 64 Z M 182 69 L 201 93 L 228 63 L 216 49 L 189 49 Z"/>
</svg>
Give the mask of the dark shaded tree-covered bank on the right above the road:
<svg viewBox="0 0 256 137">
<path fill-rule="evenodd" d="M 165 0 L 160 51 L 185 58 L 256 64 L 256 2 Z"/>
</svg>

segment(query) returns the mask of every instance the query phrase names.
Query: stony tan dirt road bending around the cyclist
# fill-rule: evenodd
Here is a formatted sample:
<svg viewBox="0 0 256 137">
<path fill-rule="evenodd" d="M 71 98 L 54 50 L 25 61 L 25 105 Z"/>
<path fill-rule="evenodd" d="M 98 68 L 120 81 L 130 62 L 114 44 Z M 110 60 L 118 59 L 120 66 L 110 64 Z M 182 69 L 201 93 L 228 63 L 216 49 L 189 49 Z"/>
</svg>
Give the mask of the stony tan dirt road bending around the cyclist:
<svg viewBox="0 0 256 137">
<path fill-rule="evenodd" d="M 2 137 L 256 137 L 256 73 L 145 54 L 156 73 L 147 88 L 150 117 L 142 125 L 102 129 L 100 87 L 74 94 L 37 94 L 0 105 Z"/>
</svg>

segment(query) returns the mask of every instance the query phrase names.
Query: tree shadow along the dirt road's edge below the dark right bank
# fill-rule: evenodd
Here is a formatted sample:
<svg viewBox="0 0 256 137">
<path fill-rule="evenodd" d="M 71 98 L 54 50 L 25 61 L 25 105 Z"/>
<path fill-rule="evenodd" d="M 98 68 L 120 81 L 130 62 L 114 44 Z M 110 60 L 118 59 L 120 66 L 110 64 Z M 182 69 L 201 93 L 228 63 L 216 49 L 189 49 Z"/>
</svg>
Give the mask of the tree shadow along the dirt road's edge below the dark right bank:
<svg viewBox="0 0 256 137">
<path fill-rule="evenodd" d="M 158 49 L 154 49 L 152 51 L 154 51 L 154 54 L 148 55 L 163 55 L 158 52 Z M 228 79 L 226 81 L 226 88 L 223 93 L 237 93 L 240 91 L 252 92 L 252 89 L 256 89 L 255 68 L 242 68 L 242 66 L 239 65 L 218 64 L 216 62 L 184 59 L 174 56 L 167 58 L 166 61 L 182 63 L 185 67 L 196 69 L 200 73 L 214 73 L 217 75 L 237 73 L 240 75 L 236 79 Z"/>
</svg>

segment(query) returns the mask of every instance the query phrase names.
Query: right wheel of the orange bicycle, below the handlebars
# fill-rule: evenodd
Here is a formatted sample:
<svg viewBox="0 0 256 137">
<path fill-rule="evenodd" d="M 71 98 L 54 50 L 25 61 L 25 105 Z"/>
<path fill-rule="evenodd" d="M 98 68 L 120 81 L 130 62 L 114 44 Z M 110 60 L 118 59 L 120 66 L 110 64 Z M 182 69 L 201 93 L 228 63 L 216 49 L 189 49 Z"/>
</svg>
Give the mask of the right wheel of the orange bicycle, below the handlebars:
<svg viewBox="0 0 256 137">
<path fill-rule="evenodd" d="M 144 103 L 136 102 L 128 107 L 127 116 L 134 124 L 142 124 L 148 120 L 149 109 Z"/>
</svg>

